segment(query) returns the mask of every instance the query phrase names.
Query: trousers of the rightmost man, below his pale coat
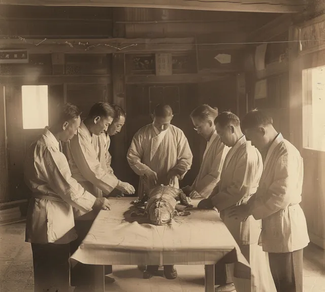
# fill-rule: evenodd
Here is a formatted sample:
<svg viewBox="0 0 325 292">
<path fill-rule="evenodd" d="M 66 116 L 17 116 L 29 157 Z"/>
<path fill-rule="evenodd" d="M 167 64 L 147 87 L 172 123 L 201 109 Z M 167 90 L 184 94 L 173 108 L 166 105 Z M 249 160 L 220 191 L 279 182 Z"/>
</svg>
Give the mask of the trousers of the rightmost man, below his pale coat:
<svg viewBox="0 0 325 292">
<path fill-rule="evenodd" d="M 303 249 L 269 252 L 272 277 L 278 292 L 303 292 Z"/>
</svg>

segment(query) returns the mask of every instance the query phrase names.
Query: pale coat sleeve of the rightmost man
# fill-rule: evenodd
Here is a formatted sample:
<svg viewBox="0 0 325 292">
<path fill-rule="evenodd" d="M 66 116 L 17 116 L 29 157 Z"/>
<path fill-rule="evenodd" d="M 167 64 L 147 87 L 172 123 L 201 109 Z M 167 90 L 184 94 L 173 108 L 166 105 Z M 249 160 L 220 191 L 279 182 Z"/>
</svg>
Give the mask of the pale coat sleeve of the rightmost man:
<svg viewBox="0 0 325 292">
<path fill-rule="evenodd" d="M 287 153 L 282 155 L 276 162 L 271 186 L 264 190 L 261 185 L 250 202 L 255 220 L 266 218 L 292 203 L 300 203 L 303 176 L 302 158 Z"/>
</svg>

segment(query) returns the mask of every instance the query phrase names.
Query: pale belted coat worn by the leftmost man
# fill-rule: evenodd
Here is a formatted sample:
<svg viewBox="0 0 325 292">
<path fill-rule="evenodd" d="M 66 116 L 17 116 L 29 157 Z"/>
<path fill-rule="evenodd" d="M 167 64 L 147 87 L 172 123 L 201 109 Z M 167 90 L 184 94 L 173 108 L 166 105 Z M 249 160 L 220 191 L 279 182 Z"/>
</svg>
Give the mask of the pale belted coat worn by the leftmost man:
<svg viewBox="0 0 325 292">
<path fill-rule="evenodd" d="M 68 161 L 59 150 L 59 142 L 47 128 L 27 150 L 24 179 L 32 191 L 26 241 L 69 243 L 75 240 L 72 206 L 88 212 L 96 198 L 72 177 Z"/>
</svg>

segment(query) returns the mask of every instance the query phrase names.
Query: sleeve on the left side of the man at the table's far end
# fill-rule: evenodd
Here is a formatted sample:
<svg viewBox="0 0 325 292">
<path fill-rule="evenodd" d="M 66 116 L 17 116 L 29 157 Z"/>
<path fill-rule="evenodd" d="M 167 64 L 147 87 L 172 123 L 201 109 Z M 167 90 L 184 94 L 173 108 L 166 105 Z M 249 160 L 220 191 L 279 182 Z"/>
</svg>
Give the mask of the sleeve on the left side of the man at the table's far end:
<svg viewBox="0 0 325 292">
<path fill-rule="evenodd" d="M 126 159 L 132 170 L 139 176 L 144 175 L 149 166 L 142 163 L 144 154 L 142 148 L 143 133 L 142 129 L 139 130 L 133 137 L 131 145 L 127 151 Z"/>
</svg>

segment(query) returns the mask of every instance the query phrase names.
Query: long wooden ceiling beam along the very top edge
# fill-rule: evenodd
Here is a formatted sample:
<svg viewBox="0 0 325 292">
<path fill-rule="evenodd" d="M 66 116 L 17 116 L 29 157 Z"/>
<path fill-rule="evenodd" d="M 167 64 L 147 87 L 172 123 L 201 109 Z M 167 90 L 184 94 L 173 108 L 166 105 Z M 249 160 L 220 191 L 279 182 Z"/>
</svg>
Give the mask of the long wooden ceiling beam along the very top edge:
<svg viewBox="0 0 325 292">
<path fill-rule="evenodd" d="M 136 7 L 213 11 L 298 13 L 306 0 L 0 0 L 6 5 Z"/>
</svg>

